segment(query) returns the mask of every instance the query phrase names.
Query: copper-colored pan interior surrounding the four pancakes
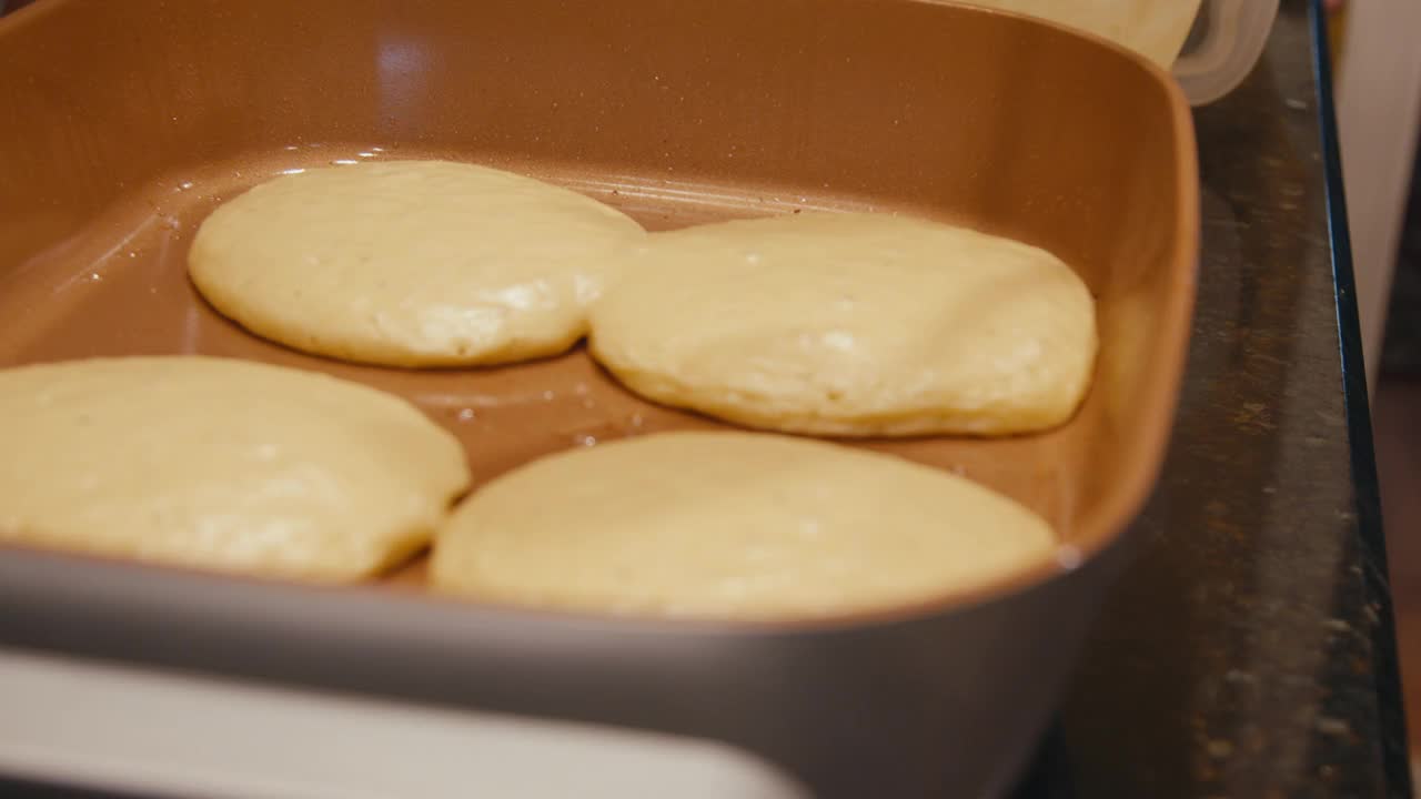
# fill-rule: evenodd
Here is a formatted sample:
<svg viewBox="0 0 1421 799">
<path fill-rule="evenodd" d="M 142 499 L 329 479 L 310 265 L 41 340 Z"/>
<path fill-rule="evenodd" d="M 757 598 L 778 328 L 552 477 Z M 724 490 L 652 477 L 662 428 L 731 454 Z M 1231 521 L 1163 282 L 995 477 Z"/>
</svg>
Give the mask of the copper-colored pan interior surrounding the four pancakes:
<svg viewBox="0 0 1421 799">
<path fill-rule="evenodd" d="M 854 208 L 1044 246 L 1098 299 L 1080 414 L 1043 435 L 864 445 L 1002 490 L 1084 554 L 1162 456 L 1192 303 L 1188 112 L 1162 74 L 1046 26 L 905 0 L 43 0 L 0 21 L 0 365 L 206 353 L 323 370 L 415 401 L 479 482 L 716 427 L 634 398 L 581 348 L 455 371 L 301 355 L 186 280 L 198 223 L 253 183 L 443 156 L 649 229 Z M 395 577 L 419 580 L 418 564 Z"/>
</svg>

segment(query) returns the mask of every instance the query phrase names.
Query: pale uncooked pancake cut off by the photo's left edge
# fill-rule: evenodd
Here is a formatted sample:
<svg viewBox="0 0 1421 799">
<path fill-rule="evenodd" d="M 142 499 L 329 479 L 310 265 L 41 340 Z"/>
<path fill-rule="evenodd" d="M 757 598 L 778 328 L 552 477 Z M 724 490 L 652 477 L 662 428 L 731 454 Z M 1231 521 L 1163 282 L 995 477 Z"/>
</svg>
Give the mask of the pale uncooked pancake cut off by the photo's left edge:
<svg viewBox="0 0 1421 799">
<path fill-rule="evenodd" d="M 428 543 L 469 483 L 394 395 L 207 357 L 0 371 L 0 540 L 315 581 Z"/>
</svg>

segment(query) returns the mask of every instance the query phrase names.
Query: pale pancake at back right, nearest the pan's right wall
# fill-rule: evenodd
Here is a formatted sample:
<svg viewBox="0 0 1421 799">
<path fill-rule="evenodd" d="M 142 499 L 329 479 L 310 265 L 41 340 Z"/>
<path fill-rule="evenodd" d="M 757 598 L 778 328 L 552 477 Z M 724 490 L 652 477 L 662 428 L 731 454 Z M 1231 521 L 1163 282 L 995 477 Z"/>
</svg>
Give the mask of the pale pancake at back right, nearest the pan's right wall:
<svg viewBox="0 0 1421 799">
<path fill-rule="evenodd" d="M 1046 250 L 870 213 L 657 233 L 593 309 L 591 351 L 657 402 L 747 427 L 868 436 L 1067 421 L 1094 300 Z"/>
</svg>

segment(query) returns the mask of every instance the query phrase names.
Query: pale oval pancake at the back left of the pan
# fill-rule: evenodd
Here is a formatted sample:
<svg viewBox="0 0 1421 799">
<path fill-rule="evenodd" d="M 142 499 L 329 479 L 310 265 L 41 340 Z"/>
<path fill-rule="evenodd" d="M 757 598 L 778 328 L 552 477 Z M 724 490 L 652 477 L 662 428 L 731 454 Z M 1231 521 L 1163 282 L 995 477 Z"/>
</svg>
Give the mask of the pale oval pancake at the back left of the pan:
<svg viewBox="0 0 1421 799">
<path fill-rule="evenodd" d="M 223 316 L 307 353 L 398 367 L 553 355 L 587 331 L 628 216 L 446 161 L 362 162 L 261 183 L 215 210 L 189 273 Z"/>
</svg>

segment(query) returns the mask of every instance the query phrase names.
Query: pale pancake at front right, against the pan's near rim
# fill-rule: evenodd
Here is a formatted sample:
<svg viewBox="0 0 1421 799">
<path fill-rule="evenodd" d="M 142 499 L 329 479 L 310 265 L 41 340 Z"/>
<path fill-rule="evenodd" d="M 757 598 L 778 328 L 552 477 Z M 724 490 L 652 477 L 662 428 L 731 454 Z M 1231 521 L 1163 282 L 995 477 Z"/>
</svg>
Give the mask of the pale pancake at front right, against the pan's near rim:
<svg viewBox="0 0 1421 799">
<path fill-rule="evenodd" d="M 587 613 L 809 618 L 968 591 L 1052 557 L 1046 522 L 844 445 L 669 432 L 533 461 L 435 537 L 438 590 Z"/>
</svg>

